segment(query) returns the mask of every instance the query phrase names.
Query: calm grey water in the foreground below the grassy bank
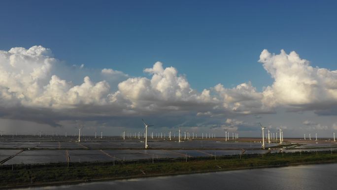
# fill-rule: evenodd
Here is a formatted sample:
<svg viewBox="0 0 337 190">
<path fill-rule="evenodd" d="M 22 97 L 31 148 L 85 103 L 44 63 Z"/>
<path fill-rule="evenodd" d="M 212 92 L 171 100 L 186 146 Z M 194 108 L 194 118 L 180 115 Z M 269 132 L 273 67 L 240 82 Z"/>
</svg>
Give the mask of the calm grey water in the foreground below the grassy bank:
<svg viewBox="0 0 337 190">
<path fill-rule="evenodd" d="M 24 190 L 337 190 L 337 164 L 138 178 Z"/>
</svg>

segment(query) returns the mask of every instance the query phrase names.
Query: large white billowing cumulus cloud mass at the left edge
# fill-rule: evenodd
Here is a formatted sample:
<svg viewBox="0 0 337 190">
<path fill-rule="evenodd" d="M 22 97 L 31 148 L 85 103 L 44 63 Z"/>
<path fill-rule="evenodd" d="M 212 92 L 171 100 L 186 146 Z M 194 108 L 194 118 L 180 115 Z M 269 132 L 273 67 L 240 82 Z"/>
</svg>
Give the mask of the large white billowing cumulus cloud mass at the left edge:
<svg viewBox="0 0 337 190">
<path fill-rule="evenodd" d="M 64 65 L 52 56 L 51 50 L 42 46 L 0 51 L 2 105 L 62 109 L 82 104 L 106 104 L 110 92 L 106 81 L 95 83 L 85 76 L 83 83 L 75 85 L 61 79 L 55 71 Z"/>
</svg>

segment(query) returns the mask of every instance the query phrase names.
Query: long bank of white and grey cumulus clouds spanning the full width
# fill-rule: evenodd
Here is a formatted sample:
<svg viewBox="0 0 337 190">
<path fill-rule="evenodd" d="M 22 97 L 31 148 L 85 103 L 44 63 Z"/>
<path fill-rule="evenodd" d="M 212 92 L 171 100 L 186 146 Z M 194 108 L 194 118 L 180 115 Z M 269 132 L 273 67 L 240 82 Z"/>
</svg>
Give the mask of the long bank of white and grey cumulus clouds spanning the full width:
<svg viewBox="0 0 337 190">
<path fill-rule="evenodd" d="M 326 113 L 336 106 L 337 71 L 313 68 L 294 51 L 263 50 L 259 62 L 274 80 L 261 92 L 250 81 L 198 92 L 186 76 L 161 62 L 144 69 L 148 77 L 132 77 L 111 68 L 68 66 L 42 46 L 15 47 L 0 51 L 0 118 L 61 126 L 71 119 L 106 123 L 111 118 L 165 115 L 207 125 L 200 121 L 218 118 L 224 130 L 236 130 L 247 125 L 233 118 L 237 115 L 274 114 L 280 107 Z"/>
</svg>

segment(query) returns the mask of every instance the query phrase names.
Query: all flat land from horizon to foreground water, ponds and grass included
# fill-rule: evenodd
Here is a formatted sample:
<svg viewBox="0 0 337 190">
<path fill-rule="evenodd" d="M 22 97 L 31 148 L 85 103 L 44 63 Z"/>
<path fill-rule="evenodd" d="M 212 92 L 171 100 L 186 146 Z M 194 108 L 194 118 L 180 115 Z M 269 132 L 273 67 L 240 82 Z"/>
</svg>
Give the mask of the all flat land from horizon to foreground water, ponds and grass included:
<svg viewBox="0 0 337 190">
<path fill-rule="evenodd" d="M 337 143 L 329 139 L 195 138 L 144 140 L 120 137 L 3 136 L 0 186 L 80 183 L 102 179 L 175 175 L 230 169 L 337 161 Z"/>
</svg>

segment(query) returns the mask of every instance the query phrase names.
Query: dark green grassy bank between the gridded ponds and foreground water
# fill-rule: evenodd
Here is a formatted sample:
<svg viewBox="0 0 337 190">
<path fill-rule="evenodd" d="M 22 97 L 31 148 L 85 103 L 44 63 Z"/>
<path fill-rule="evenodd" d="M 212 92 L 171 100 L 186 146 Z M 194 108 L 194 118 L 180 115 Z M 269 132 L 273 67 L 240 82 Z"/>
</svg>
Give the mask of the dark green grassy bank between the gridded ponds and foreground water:
<svg viewBox="0 0 337 190">
<path fill-rule="evenodd" d="M 0 167 L 0 188 L 322 162 L 337 162 L 337 152 L 289 152 L 154 159 L 153 163 L 152 160 L 71 163 L 69 167 L 67 163 L 4 165 Z"/>
</svg>

